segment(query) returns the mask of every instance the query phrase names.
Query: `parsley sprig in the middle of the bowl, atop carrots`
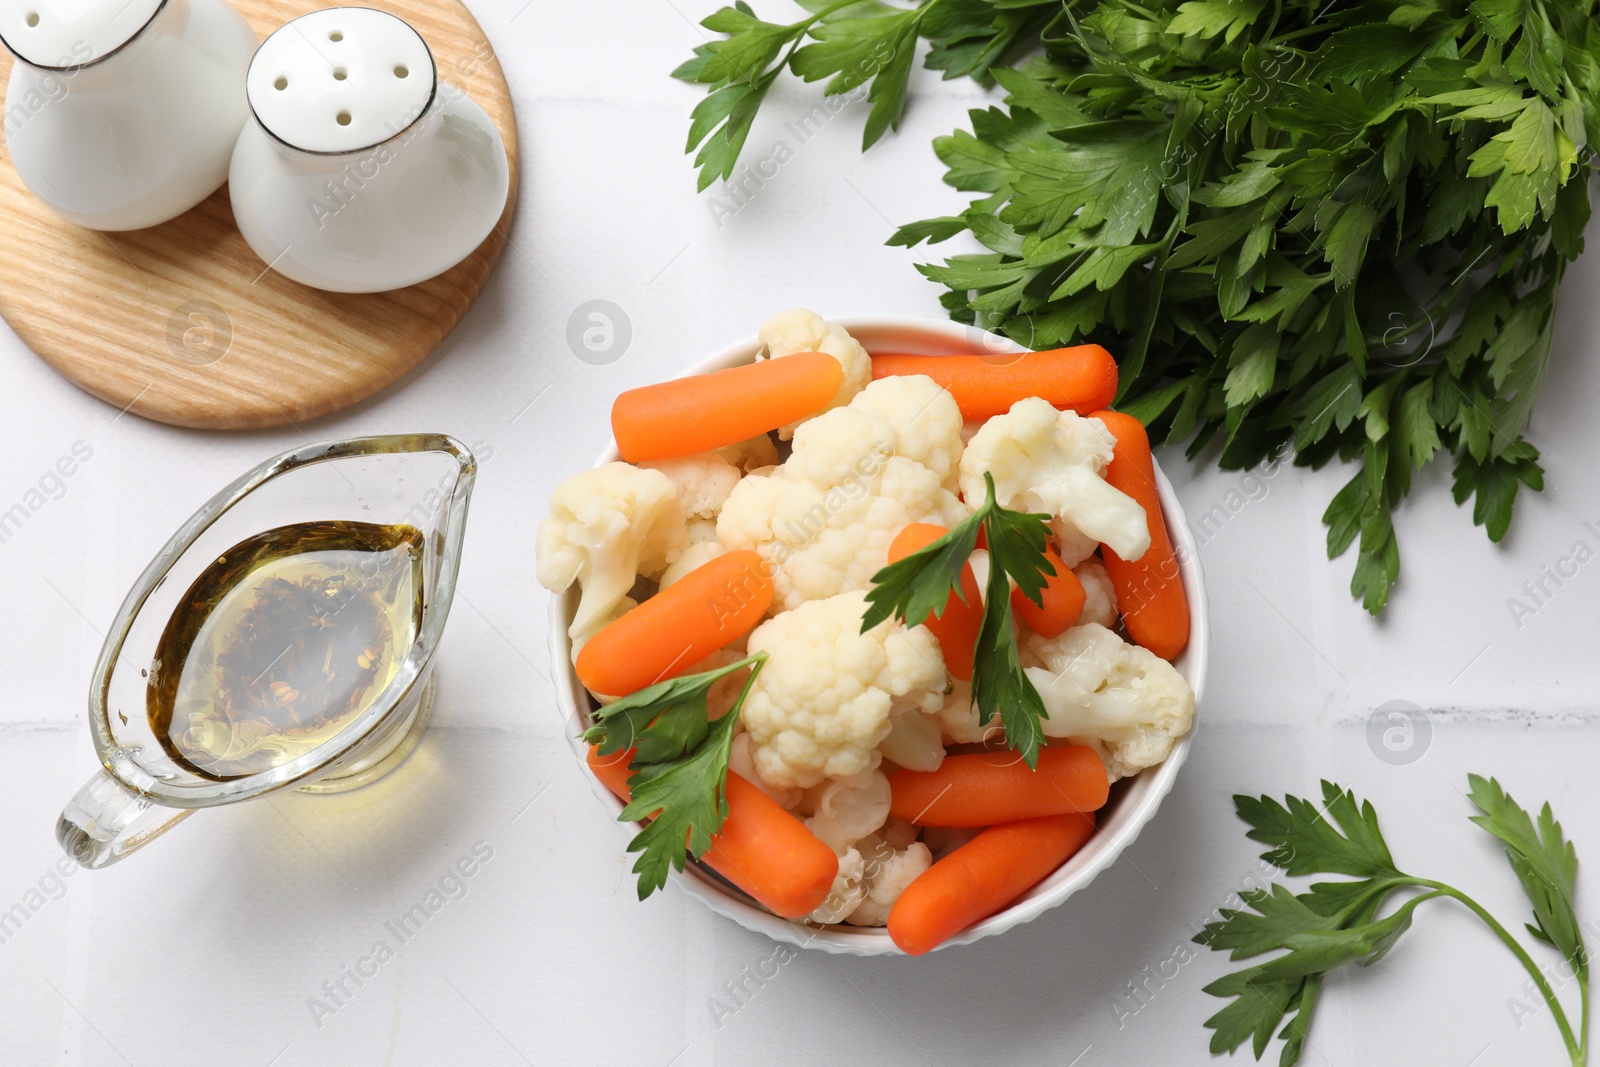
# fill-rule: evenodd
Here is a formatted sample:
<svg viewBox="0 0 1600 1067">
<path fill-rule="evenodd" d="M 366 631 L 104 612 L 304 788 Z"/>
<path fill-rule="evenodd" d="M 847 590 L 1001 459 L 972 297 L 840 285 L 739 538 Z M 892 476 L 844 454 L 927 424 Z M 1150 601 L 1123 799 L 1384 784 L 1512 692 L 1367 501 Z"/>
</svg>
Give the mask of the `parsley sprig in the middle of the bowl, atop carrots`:
<svg viewBox="0 0 1600 1067">
<path fill-rule="evenodd" d="M 984 485 L 987 496 L 982 507 L 938 541 L 872 576 L 874 587 L 867 592 L 861 632 L 866 633 L 890 617 L 918 625 L 930 614 L 942 616 L 950 593 L 966 603 L 962 568 L 982 530 L 989 542 L 989 579 L 984 621 L 973 654 L 973 704 L 978 705 L 979 726 L 998 713 L 1006 744 L 1021 752 L 1029 766 L 1037 766 L 1038 749 L 1045 742 L 1045 701 L 1018 659 L 1011 581 L 1024 597 L 1043 606 L 1045 579 L 1056 573 L 1045 557 L 1050 515 L 1000 507 L 995 501 L 995 480 L 987 472 Z"/>
</svg>

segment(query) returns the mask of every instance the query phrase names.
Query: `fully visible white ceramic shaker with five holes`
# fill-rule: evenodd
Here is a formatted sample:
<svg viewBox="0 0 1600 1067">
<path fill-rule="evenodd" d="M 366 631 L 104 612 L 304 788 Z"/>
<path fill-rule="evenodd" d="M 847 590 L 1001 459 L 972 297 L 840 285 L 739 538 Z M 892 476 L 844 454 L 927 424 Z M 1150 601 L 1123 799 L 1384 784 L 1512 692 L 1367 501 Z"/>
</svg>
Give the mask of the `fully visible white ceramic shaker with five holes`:
<svg viewBox="0 0 1600 1067">
<path fill-rule="evenodd" d="M 456 266 L 499 222 L 499 131 L 438 80 L 402 19 L 304 14 L 267 37 L 245 85 L 254 122 L 234 150 L 234 218 L 278 274 L 336 293 L 398 290 Z"/>
</svg>

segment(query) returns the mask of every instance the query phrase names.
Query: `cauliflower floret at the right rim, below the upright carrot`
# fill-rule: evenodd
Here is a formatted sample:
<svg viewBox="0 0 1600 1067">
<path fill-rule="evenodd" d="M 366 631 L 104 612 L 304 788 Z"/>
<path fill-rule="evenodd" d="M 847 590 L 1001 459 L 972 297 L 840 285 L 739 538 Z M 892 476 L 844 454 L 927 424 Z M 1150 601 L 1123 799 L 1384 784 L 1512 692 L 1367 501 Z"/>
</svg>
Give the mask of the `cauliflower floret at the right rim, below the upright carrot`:
<svg viewBox="0 0 1600 1067">
<path fill-rule="evenodd" d="M 1114 782 L 1165 760 L 1194 725 L 1195 694 L 1178 669 L 1102 625 L 1027 645 L 1045 664 L 1026 669 L 1050 713 L 1045 734 L 1098 742 Z"/>
</svg>

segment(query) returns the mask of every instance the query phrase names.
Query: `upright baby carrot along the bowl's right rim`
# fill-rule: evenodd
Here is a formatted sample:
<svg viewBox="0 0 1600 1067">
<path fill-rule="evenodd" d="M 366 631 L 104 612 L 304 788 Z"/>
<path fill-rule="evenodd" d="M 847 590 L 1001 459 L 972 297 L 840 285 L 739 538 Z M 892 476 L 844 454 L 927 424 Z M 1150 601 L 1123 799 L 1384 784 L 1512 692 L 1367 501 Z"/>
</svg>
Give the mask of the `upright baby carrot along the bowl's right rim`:
<svg viewBox="0 0 1600 1067">
<path fill-rule="evenodd" d="M 1189 597 L 1155 493 L 1150 435 L 1142 422 L 1122 411 L 1096 411 L 1094 418 L 1117 438 L 1106 482 L 1138 501 L 1150 522 L 1150 547 L 1133 563 L 1110 549 L 1101 553 L 1117 593 L 1117 611 L 1134 643 L 1162 659 L 1174 659 L 1189 643 Z"/>
</svg>

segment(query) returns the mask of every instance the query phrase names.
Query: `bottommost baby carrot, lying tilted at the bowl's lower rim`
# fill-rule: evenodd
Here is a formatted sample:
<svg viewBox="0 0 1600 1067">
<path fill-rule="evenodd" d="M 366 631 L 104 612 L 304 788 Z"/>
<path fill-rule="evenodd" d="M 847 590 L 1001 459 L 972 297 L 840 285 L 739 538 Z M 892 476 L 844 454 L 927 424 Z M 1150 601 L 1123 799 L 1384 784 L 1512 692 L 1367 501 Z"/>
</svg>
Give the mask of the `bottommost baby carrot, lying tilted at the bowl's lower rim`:
<svg viewBox="0 0 1600 1067">
<path fill-rule="evenodd" d="M 1059 814 L 989 827 L 917 875 L 890 909 L 890 937 L 920 957 L 1011 904 L 1094 835 L 1094 816 Z"/>
</svg>

